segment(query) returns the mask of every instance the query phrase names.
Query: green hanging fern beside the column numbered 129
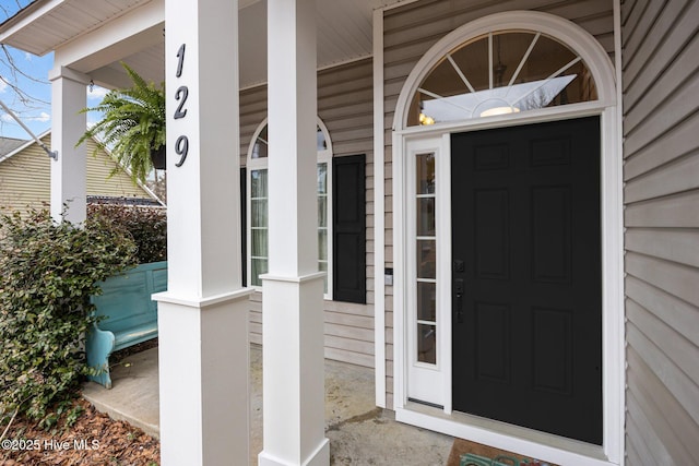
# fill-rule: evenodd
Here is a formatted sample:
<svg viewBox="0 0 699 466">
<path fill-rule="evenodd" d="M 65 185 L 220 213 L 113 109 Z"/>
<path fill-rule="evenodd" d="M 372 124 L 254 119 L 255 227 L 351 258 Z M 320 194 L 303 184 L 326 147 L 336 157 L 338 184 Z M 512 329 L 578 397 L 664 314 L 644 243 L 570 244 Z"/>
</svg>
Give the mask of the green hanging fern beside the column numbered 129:
<svg viewBox="0 0 699 466">
<path fill-rule="evenodd" d="M 110 91 L 99 105 L 81 110 L 98 111 L 103 118 L 85 131 L 76 145 L 95 139 L 97 148 L 109 150 L 131 171 L 134 181 L 145 182 L 153 168 L 165 168 L 165 85 L 156 87 L 128 64 L 121 64 L 133 85 Z"/>
</svg>

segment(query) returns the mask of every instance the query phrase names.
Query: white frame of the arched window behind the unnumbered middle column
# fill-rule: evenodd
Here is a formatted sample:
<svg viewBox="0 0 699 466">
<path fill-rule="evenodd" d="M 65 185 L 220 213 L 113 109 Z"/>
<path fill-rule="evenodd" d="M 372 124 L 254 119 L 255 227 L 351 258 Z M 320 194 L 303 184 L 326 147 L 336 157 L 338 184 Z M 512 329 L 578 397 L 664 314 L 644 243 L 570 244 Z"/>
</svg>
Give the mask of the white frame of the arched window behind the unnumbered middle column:
<svg viewBox="0 0 699 466">
<path fill-rule="evenodd" d="M 327 231 L 328 231 L 328 291 L 323 295 L 325 300 L 332 300 L 332 289 L 333 289 L 333 276 L 332 276 L 332 267 L 333 267 L 333 229 L 332 229 L 332 141 L 330 140 L 330 132 L 328 131 L 328 127 L 323 123 L 320 118 L 317 119 L 318 128 L 320 128 L 324 139 L 325 139 L 325 148 L 323 151 L 318 151 L 317 164 L 325 164 L 325 176 L 327 179 Z M 254 170 L 266 170 L 268 169 L 268 158 L 252 158 L 252 151 L 254 148 L 254 144 L 260 136 L 262 130 L 268 126 L 268 119 L 265 118 L 258 126 L 252 134 L 252 139 L 250 140 L 250 144 L 248 146 L 247 162 L 246 162 L 246 203 L 247 203 L 247 218 L 246 218 L 246 241 L 247 241 L 247 256 L 246 267 L 247 267 L 247 277 L 248 277 L 248 286 L 262 291 L 261 285 L 252 285 L 252 205 L 251 205 L 251 193 L 252 193 L 252 171 Z M 269 240 L 269 237 L 268 237 Z M 269 252 L 269 251 L 268 251 Z M 268 256 L 269 260 L 269 256 Z"/>
</svg>

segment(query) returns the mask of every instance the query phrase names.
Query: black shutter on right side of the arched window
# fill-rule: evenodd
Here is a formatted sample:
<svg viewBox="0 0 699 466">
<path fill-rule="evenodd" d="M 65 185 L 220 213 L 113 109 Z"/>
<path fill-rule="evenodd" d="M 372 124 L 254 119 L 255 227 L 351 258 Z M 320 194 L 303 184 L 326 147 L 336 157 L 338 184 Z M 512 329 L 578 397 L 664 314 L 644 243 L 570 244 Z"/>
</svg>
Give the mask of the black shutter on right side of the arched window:
<svg viewBox="0 0 699 466">
<path fill-rule="evenodd" d="M 365 156 L 333 158 L 333 300 L 366 303 Z"/>
</svg>

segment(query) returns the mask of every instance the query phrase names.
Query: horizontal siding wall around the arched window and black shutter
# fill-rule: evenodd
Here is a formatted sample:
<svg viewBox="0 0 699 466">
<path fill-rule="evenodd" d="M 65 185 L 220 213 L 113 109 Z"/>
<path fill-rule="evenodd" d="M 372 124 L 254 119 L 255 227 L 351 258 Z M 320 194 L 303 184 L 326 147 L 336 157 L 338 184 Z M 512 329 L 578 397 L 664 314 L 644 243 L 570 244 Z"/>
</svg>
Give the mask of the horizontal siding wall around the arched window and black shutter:
<svg viewBox="0 0 699 466">
<path fill-rule="evenodd" d="M 367 304 L 324 301 L 325 357 L 374 367 L 374 139 L 371 60 L 318 73 L 318 116 L 332 141 L 333 157 L 366 154 Z M 266 86 L 240 93 L 240 163 L 266 118 Z M 262 343 L 262 294 L 250 299 L 250 339 Z"/>
</svg>

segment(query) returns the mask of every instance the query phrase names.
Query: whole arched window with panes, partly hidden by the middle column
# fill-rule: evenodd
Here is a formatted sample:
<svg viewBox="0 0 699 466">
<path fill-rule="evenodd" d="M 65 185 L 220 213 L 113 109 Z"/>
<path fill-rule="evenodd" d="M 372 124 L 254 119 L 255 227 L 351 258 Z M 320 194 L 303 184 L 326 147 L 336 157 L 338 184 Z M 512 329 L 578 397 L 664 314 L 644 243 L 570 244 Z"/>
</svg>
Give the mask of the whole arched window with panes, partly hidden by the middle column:
<svg viewBox="0 0 699 466">
<path fill-rule="evenodd" d="M 317 119 L 318 270 L 325 272 L 324 297 L 332 299 L 332 142 L 325 124 Z M 261 288 L 260 275 L 269 272 L 268 237 L 268 119 L 252 134 L 247 157 L 247 276 Z"/>
</svg>

